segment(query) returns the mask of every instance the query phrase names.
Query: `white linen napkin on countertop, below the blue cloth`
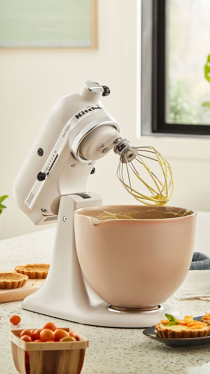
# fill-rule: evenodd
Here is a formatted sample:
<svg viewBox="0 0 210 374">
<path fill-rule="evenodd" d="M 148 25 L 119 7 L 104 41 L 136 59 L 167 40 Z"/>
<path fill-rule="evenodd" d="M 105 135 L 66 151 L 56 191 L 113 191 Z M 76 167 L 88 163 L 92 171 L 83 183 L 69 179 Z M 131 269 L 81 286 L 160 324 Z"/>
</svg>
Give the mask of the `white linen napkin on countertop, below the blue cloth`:
<svg viewBox="0 0 210 374">
<path fill-rule="evenodd" d="M 210 300 L 210 270 L 189 270 L 175 298 Z"/>
</svg>

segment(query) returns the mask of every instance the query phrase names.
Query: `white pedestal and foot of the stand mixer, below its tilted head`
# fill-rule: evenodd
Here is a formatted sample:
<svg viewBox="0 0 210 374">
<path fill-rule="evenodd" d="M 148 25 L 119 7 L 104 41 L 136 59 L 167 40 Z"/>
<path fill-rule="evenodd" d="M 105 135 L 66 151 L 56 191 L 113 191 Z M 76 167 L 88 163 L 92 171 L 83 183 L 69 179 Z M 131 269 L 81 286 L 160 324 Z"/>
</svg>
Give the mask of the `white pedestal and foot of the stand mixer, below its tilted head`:
<svg viewBox="0 0 210 374">
<path fill-rule="evenodd" d="M 73 212 L 84 206 L 97 205 L 102 205 L 102 198 L 95 193 L 89 193 L 89 199 L 79 195 L 61 196 L 49 273 L 43 285 L 23 300 L 22 308 L 67 321 L 104 327 L 150 327 L 165 319 L 165 313 L 179 318 L 179 312 L 166 303 L 152 312 L 113 312 L 87 284 L 77 258 Z"/>
</svg>

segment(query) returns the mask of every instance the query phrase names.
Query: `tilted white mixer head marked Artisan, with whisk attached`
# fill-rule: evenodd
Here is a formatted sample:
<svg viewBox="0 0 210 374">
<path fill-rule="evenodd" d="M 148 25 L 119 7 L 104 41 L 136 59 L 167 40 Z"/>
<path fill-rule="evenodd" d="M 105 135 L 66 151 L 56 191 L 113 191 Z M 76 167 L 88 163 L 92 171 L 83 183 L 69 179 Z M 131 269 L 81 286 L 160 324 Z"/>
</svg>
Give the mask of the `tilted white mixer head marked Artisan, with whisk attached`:
<svg viewBox="0 0 210 374">
<path fill-rule="evenodd" d="M 17 205 L 35 224 L 57 220 L 62 195 L 86 193 L 96 160 L 113 148 L 120 156 L 117 176 L 135 199 L 147 205 L 164 205 L 172 196 L 174 181 L 169 162 L 153 147 L 132 147 L 128 140 L 121 139 L 119 124 L 100 101 L 109 93 L 107 86 L 87 81 L 80 93 L 63 97 L 49 111 L 13 185 Z M 145 164 L 145 158 L 157 161 L 162 182 Z M 152 178 L 153 187 L 144 181 L 135 162 Z M 135 189 L 129 171 L 150 196 Z"/>
</svg>

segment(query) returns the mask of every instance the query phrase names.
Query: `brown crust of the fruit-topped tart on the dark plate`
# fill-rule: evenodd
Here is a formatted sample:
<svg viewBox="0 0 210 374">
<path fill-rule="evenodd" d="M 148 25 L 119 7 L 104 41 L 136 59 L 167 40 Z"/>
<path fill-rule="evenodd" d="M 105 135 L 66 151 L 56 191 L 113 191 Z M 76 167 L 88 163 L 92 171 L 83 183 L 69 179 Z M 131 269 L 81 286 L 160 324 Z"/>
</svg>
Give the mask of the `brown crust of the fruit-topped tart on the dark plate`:
<svg viewBox="0 0 210 374">
<path fill-rule="evenodd" d="M 158 335 L 161 338 L 165 338 L 165 339 L 203 338 L 209 335 L 209 332 L 210 332 L 210 326 L 208 326 L 206 330 L 188 329 L 188 330 L 182 330 L 182 331 L 174 331 L 172 329 L 162 329 L 160 327 L 160 324 L 155 325 L 155 328 L 156 328 Z"/>
</svg>

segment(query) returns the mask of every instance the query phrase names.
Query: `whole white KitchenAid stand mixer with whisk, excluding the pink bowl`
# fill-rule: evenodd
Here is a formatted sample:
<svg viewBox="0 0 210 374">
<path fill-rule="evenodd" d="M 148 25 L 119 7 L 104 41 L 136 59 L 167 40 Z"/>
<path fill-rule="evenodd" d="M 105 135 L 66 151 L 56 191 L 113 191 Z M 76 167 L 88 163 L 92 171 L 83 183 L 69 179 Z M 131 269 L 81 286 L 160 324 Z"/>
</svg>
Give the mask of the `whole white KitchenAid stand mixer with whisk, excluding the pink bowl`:
<svg viewBox="0 0 210 374">
<path fill-rule="evenodd" d="M 86 282 L 75 247 L 73 212 L 102 205 L 102 197 L 87 192 L 86 184 L 89 175 L 95 172 L 96 160 L 111 149 L 120 156 L 118 178 L 140 202 L 164 205 L 173 193 L 173 175 L 167 160 L 153 147 L 135 148 L 126 139 L 122 140 L 120 126 L 99 101 L 109 92 L 107 86 L 87 81 L 80 93 L 56 102 L 16 177 L 13 186 L 16 204 L 31 221 L 36 225 L 57 221 L 47 278 L 38 291 L 24 299 L 22 308 L 82 324 L 146 327 L 165 318 L 165 313 L 176 318 L 179 313 L 166 303 L 154 310 L 138 312 L 109 310 Z M 163 182 L 146 166 L 144 157 L 158 161 Z M 140 176 L 133 164 L 135 160 L 152 177 L 156 189 Z M 127 171 L 132 169 L 149 190 L 149 196 L 132 187 L 129 175 L 126 181 L 123 167 Z"/>
</svg>

